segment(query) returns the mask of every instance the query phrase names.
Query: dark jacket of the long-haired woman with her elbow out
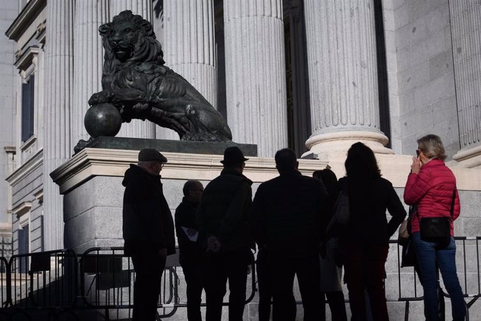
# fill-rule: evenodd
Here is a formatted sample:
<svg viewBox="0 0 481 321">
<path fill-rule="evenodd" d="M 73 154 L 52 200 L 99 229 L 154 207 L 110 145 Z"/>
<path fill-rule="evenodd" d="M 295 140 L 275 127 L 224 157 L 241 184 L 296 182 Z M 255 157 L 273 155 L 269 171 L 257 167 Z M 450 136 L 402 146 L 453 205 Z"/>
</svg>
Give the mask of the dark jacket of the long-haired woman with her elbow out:
<svg viewBox="0 0 481 321">
<path fill-rule="evenodd" d="M 339 242 L 344 245 L 388 246 L 389 238 L 406 217 L 406 210 L 391 182 L 384 178 L 352 180 L 341 178 L 337 192 L 347 180 L 349 190 L 349 224 Z M 335 194 L 337 195 L 337 193 Z M 392 218 L 386 219 L 386 209 Z"/>
</svg>

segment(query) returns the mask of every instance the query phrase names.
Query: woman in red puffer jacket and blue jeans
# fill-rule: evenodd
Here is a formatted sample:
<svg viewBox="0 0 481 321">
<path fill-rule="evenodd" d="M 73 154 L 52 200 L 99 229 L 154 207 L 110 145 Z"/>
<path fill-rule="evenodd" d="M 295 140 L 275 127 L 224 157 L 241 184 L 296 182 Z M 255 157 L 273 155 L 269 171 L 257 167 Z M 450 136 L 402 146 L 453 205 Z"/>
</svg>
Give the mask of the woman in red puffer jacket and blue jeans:
<svg viewBox="0 0 481 321">
<path fill-rule="evenodd" d="M 456 273 L 456 244 L 452 224 L 460 212 L 456 178 L 444 164 L 445 150 L 438 136 L 429 134 L 418 139 L 416 154 L 418 157 L 413 157 L 411 173 L 404 189 L 404 201 L 409 205 L 418 204 L 418 213 L 413 215 L 411 221 L 411 235 L 425 292 L 425 317 L 428 321 L 439 320 L 438 267 L 451 297 L 452 318 L 461 321 L 466 316 L 466 308 Z M 426 217 L 449 218 L 451 237 L 448 244 L 422 240 L 420 220 Z"/>
</svg>

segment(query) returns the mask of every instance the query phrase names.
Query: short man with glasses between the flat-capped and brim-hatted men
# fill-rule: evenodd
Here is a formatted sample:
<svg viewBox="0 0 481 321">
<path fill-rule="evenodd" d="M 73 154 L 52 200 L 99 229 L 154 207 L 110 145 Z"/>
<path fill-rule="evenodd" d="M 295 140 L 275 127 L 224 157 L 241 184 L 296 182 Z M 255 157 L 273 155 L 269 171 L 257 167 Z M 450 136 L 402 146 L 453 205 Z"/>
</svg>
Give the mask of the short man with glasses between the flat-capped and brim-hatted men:
<svg viewBox="0 0 481 321">
<path fill-rule="evenodd" d="M 198 180 L 188 180 L 182 189 L 184 197 L 175 214 L 178 242 L 178 260 L 187 283 L 187 318 L 201 321 L 201 295 L 204 288 L 204 251 L 198 241 L 199 226 L 196 212 L 202 198 L 204 186 Z"/>
</svg>

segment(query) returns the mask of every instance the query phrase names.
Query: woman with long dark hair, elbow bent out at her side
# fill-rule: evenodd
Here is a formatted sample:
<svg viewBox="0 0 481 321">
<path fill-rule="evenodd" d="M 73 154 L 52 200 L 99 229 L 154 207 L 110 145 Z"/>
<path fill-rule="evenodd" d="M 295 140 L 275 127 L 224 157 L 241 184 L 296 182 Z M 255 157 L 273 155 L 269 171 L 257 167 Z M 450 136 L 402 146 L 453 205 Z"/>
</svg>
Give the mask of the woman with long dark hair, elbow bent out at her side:
<svg viewBox="0 0 481 321">
<path fill-rule="evenodd" d="M 389 320 L 383 287 L 384 264 L 389 238 L 406 217 L 406 210 L 392 184 L 381 178 L 374 152 L 355 143 L 347 152 L 346 177 L 337 185 L 339 194 L 347 185 L 349 224 L 339 235 L 344 280 L 349 290 L 352 321 L 367 320 L 365 290 L 374 321 Z M 386 219 L 386 209 L 392 218 Z"/>
</svg>

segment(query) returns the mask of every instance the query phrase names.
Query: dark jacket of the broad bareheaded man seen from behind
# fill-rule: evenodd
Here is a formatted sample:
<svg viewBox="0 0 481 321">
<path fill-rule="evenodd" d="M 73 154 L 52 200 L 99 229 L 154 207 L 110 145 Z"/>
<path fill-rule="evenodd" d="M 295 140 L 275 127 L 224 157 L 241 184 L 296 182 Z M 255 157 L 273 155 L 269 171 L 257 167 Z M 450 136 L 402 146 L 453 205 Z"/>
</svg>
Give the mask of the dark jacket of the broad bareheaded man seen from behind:
<svg viewBox="0 0 481 321">
<path fill-rule="evenodd" d="M 256 242 L 275 256 L 319 253 L 326 188 L 299 171 L 281 173 L 262 183 L 253 204 Z"/>
</svg>

